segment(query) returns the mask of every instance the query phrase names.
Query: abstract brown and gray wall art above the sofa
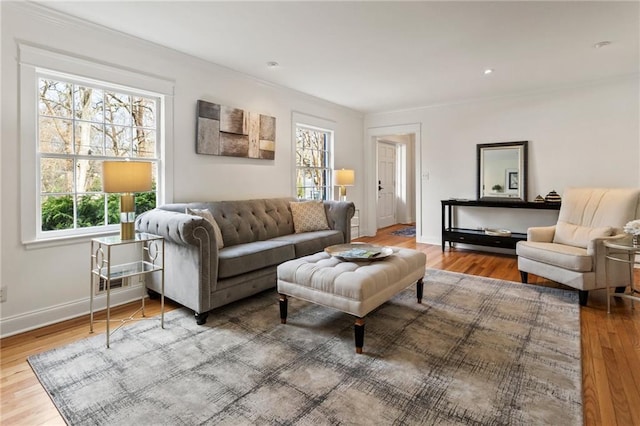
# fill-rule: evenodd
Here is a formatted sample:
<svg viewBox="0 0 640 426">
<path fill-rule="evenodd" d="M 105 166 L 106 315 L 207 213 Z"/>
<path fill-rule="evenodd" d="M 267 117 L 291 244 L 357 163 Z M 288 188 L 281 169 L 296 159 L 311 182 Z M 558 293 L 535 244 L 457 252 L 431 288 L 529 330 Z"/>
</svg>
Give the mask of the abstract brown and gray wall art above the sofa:
<svg viewBox="0 0 640 426">
<path fill-rule="evenodd" d="M 199 100 L 197 130 L 198 154 L 275 158 L 275 117 Z"/>
</svg>

